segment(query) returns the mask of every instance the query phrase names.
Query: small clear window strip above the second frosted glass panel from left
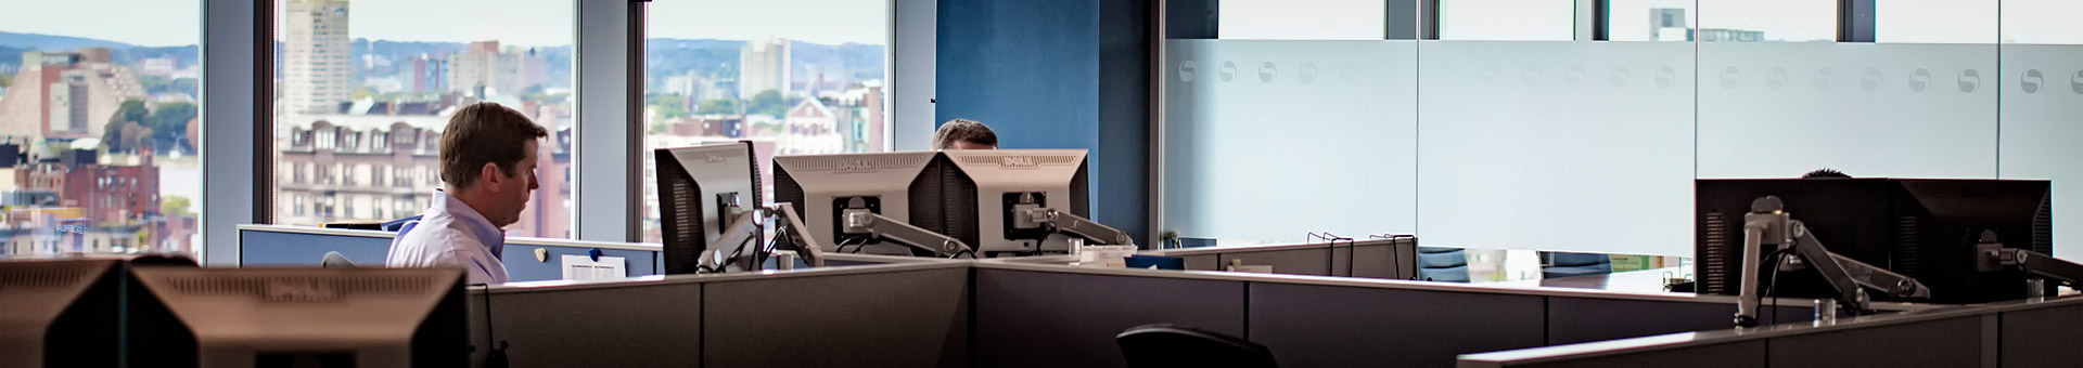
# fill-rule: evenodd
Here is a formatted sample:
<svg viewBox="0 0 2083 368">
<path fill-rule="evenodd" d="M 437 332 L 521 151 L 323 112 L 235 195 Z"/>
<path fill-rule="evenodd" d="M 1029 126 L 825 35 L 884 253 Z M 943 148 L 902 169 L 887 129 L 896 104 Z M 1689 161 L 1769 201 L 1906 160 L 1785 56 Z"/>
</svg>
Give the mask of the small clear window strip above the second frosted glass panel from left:
<svg viewBox="0 0 2083 368">
<path fill-rule="evenodd" d="M 1498 40 L 1498 42 L 1577 40 L 1577 2 L 1575 0 L 1441 0 L 1439 40 Z"/>
</svg>

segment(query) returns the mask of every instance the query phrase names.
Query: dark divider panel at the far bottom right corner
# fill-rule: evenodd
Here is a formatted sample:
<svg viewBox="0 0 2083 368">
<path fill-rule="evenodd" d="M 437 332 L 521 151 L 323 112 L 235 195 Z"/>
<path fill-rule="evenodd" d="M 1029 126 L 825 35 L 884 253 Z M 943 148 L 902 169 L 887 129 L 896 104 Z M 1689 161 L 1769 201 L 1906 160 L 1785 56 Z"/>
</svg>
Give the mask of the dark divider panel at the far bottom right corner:
<svg viewBox="0 0 2083 368">
<path fill-rule="evenodd" d="M 2002 314 L 2004 368 L 2073 368 L 2083 351 L 2083 304 Z"/>
</svg>

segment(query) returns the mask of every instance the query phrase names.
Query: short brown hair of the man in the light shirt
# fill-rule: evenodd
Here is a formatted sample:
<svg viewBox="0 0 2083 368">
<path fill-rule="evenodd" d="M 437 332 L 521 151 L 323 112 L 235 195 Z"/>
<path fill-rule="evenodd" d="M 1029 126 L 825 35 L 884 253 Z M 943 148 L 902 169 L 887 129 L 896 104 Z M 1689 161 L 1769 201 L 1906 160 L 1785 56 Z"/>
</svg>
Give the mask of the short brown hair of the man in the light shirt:
<svg viewBox="0 0 2083 368">
<path fill-rule="evenodd" d="M 515 177 L 515 166 L 527 158 L 527 141 L 542 137 L 550 137 L 550 131 L 519 110 L 492 102 L 462 106 L 442 129 L 442 181 L 456 189 L 471 187 L 483 177 L 479 168 L 485 162 Z"/>
</svg>

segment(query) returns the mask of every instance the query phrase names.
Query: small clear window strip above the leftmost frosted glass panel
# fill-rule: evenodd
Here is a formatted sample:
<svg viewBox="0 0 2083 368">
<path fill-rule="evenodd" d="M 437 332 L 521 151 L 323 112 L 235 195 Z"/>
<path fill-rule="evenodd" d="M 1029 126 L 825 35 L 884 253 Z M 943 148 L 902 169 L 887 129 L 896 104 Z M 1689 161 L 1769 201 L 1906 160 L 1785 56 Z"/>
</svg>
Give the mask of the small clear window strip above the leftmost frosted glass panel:
<svg viewBox="0 0 2083 368">
<path fill-rule="evenodd" d="M 1223 0 L 1221 40 L 1381 40 L 1381 0 Z"/>
</svg>

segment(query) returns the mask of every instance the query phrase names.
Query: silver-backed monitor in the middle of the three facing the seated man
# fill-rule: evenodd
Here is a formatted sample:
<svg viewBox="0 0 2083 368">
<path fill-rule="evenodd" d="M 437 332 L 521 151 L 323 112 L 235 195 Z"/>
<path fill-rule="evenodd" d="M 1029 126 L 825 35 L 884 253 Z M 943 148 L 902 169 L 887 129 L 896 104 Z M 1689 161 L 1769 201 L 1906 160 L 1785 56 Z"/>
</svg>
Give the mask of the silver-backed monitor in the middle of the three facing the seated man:
<svg viewBox="0 0 2083 368">
<path fill-rule="evenodd" d="M 825 252 L 881 243 L 860 233 L 844 233 L 839 225 L 846 208 L 867 208 L 912 227 L 950 235 L 944 231 L 948 189 L 942 185 L 942 173 L 948 168 L 935 158 L 939 158 L 937 152 L 775 156 L 775 204 L 785 202 L 796 208 L 810 233 L 833 245 Z M 873 249 L 921 256 L 902 245 Z"/>
</svg>

